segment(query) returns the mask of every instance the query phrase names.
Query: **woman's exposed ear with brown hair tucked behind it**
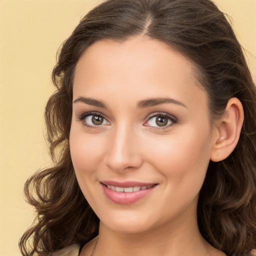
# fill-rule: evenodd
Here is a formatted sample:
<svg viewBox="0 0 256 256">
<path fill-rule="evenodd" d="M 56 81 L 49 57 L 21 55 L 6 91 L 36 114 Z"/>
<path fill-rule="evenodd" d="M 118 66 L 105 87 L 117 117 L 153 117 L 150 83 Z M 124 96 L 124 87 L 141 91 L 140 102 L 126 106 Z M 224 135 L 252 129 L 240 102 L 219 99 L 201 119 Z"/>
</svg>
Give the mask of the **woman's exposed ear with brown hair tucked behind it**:
<svg viewBox="0 0 256 256">
<path fill-rule="evenodd" d="M 225 113 L 215 122 L 210 155 L 212 161 L 221 161 L 234 150 L 240 136 L 243 118 L 242 103 L 238 98 L 230 98 Z"/>
</svg>

